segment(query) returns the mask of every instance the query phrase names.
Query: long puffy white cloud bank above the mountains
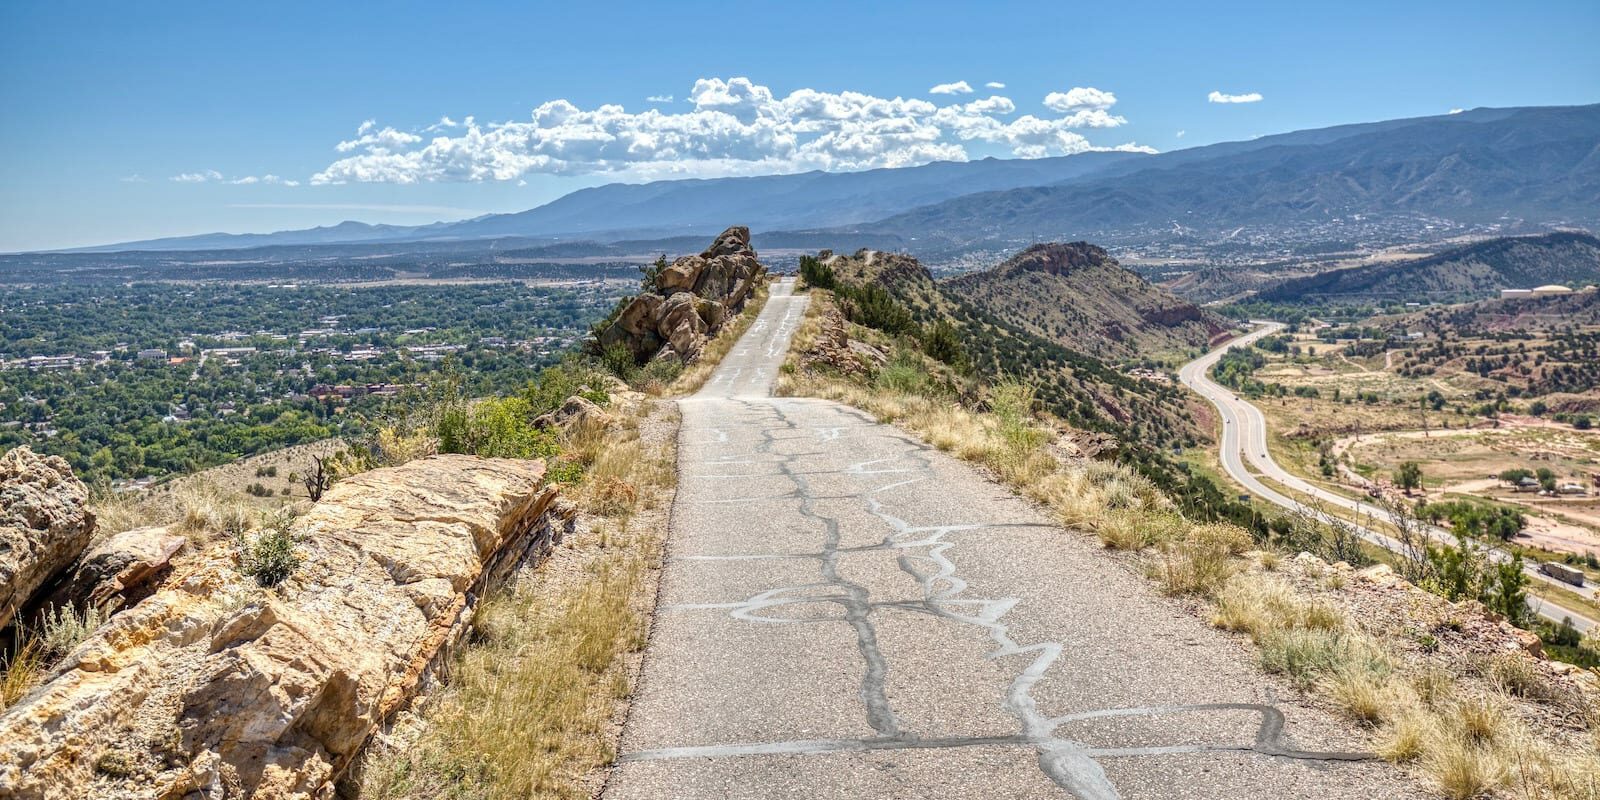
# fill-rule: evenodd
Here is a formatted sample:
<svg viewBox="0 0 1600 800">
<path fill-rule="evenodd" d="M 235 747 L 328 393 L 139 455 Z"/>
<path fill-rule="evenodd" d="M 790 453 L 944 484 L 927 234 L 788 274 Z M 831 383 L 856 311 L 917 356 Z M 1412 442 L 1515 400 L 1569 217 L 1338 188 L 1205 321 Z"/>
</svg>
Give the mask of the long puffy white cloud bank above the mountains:
<svg viewBox="0 0 1600 800">
<path fill-rule="evenodd" d="M 971 93 L 966 82 L 934 86 Z M 806 170 L 869 170 L 928 162 L 963 162 L 968 146 L 1005 147 L 1038 158 L 1085 150 L 1146 150 L 1133 142 L 1091 144 L 1082 128 L 1117 128 L 1110 91 L 1072 88 L 1050 93 L 1056 115 L 1018 112 L 1005 96 L 939 106 L 925 99 L 878 98 L 858 91 L 795 90 L 776 96 L 749 78 L 701 78 L 686 110 L 629 112 L 603 104 L 581 109 L 555 99 L 528 120 L 478 123 L 467 117 L 446 133 L 416 133 L 366 120 L 347 154 L 310 178 L 312 184 L 435 181 L 515 181 L 526 174 L 672 176 L 771 174 Z M 218 176 L 221 178 L 221 176 Z M 176 179 L 176 178 L 174 178 Z"/>
</svg>

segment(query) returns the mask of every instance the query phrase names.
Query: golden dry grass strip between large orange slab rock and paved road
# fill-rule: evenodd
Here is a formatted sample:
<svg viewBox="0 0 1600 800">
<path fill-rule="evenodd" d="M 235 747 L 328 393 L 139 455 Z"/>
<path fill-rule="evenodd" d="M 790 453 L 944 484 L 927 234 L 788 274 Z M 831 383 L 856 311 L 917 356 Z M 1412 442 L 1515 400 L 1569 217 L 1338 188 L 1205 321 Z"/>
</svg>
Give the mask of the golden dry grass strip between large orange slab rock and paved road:
<svg viewBox="0 0 1600 800">
<path fill-rule="evenodd" d="M 587 525 L 560 557 L 581 573 L 539 570 L 483 600 L 414 741 L 363 765 L 363 797 L 594 795 L 595 770 L 614 757 L 613 715 L 632 690 L 627 656 L 645 645 L 646 576 L 661 558 L 664 530 L 638 512 L 675 482 L 670 437 L 646 443 L 640 427 L 640 416 L 621 414 L 566 434 L 563 458 L 584 466 L 568 491 Z"/>
</svg>

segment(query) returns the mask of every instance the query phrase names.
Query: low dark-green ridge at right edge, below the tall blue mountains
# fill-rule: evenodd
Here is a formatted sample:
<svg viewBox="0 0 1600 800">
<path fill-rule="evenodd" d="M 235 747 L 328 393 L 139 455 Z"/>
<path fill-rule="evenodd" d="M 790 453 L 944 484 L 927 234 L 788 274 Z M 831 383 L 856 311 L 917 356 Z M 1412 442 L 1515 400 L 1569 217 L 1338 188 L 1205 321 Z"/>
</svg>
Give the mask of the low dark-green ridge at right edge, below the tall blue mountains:
<svg viewBox="0 0 1600 800">
<path fill-rule="evenodd" d="M 1374 302 L 1486 299 L 1499 290 L 1600 282 L 1600 238 L 1546 234 L 1477 242 L 1400 262 L 1293 278 L 1258 293 L 1272 302 Z"/>
</svg>

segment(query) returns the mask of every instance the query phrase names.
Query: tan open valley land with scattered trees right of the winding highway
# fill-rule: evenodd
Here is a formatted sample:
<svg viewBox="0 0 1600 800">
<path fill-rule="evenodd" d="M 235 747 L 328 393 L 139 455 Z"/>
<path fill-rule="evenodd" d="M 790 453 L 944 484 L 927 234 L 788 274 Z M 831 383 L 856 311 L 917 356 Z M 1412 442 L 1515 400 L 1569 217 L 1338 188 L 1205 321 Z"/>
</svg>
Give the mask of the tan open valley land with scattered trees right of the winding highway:
<svg viewBox="0 0 1600 800">
<path fill-rule="evenodd" d="M 1400 466 L 1416 462 L 1418 499 L 1478 499 L 1522 510 L 1526 528 L 1512 544 L 1530 555 L 1600 554 L 1600 430 L 1574 424 L 1584 400 L 1600 397 L 1586 370 L 1563 371 L 1554 357 L 1570 357 L 1562 342 L 1587 341 L 1587 331 L 1509 342 L 1453 339 L 1445 347 L 1416 339 L 1330 342 L 1326 333 L 1285 334 L 1237 360 L 1248 376 L 1238 373 L 1234 382 L 1267 416 L 1278 462 L 1349 493 L 1392 486 Z M 1518 347 L 1528 370 L 1520 362 L 1498 366 Z M 1458 357 L 1430 360 L 1435 352 Z M 1562 382 L 1563 376 L 1579 382 Z M 1562 392 L 1526 394 L 1552 378 Z M 1557 485 L 1586 491 L 1517 491 L 1499 480 L 1514 469 L 1544 469 Z"/>
</svg>

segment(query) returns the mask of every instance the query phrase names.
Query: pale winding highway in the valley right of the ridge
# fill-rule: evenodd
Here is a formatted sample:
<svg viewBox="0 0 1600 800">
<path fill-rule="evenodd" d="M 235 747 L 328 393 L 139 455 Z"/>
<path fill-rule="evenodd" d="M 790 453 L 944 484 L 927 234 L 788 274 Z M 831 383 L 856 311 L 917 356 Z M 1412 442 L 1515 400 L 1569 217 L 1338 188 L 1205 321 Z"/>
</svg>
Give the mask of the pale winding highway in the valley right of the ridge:
<svg viewBox="0 0 1600 800">
<path fill-rule="evenodd" d="M 1227 352 L 1230 347 L 1250 346 L 1256 339 L 1262 336 L 1270 336 L 1282 330 L 1283 323 L 1280 322 L 1259 322 L 1254 331 L 1238 339 L 1234 339 L 1202 355 L 1200 358 L 1195 358 L 1194 362 L 1189 362 L 1187 365 L 1182 366 L 1182 370 L 1178 371 L 1178 379 L 1182 381 L 1184 386 L 1194 389 L 1202 397 L 1210 400 L 1211 405 L 1214 405 L 1218 413 L 1222 416 L 1222 445 L 1221 445 L 1222 469 L 1226 469 L 1227 474 L 1234 477 L 1234 480 L 1237 480 L 1240 485 L 1250 490 L 1253 496 L 1282 506 L 1285 509 L 1301 509 L 1304 507 L 1304 504 L 1262 483 L 1256 477 L 1256 474 L 1246 469 L 1246 462 L 1251 467 L 1254 467 L 1256 472 L 1259 472 L 1261 475 L 1266 475 L 1283 486 L 1290 486 L 1294 491 L 1301 491 L 1304 494 L 1317 498 L 1318 501 L 1326 502 L 1328 506 L 1349 509 L 1363 517 L 1387 520 L 1389 518 L 1387 512 L 1384 512 L 1378 506 L 1373 506 L 1371 502 L 1363 502 L 1360 499 L 1347 498 L 1336 491 L 1325 490 L 1280 467 L 1277 461 L 1272 461 L 1272 454 L 1267 450 L 1267 418 L 1261 413 L 1259 408 L 1238 398 L 1232 389 L 1221 386 L 1211 379 L 1210 376 L 1211 366 L 1214 366 L 1216 362 L 1222 357 L 1222 354 Z M 1400 542 L 1382 534 L 1381 531 L 1366 526 L 1357 526 L 1357 530 L 1366 541 L 1373 544 L 1389 547 L 1394 550 L 1398 550 L 1400 547 Z M 1442 542 L 1448 544 L 1456 542 L 1456 536 L 1443 528 L 1429 526 L 1429 533 Z M 1510 555 L 1502 554 L 1499 550 L 1491 550 L 1488 552 L 1488 555 L 1496 560 L 1512 558 Z M 1538 571 L 1533 562 L 1523 562 L 1523 573 L 1526 573 L 1528 578 L 1531 578 L 1533 581 L 1558 586 L 1570 592 L 1578 592 L 1584 597 L 1594 598 L 1594 587 L 1587 586 L 1576 587 L 1558 582 L 1550 576 Z M 1563 618 L 1571 618 L 1573 626 L 1576 626 L 1579 630 L 1589 630 L 1590 627 L 1595 626 L 1595 621 L 1586 616 L 1584 613 L 1562 608 L 1560 605 L 1552 603 L 1549 600 L 1533 600 L 1528 605 L 1546 619 L 1555 622 L 1560 622 Z"/>
</svg>

